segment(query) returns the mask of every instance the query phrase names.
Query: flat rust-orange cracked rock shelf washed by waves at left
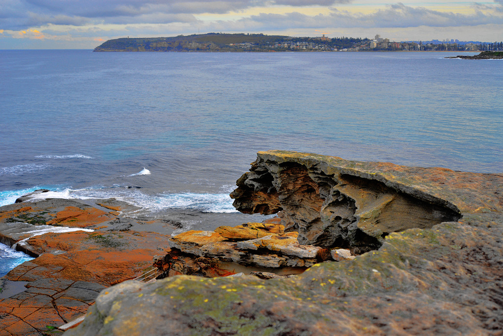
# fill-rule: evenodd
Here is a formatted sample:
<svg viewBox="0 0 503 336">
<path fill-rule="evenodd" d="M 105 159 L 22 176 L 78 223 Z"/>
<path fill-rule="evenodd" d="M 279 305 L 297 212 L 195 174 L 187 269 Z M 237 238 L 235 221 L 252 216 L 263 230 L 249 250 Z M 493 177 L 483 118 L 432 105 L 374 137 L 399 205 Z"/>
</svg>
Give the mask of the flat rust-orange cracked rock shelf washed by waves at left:
<svg viewBox="0 0 503 336">
<path fill-rule="evenodd" d="M 139 276 L 169 246 L 169 236 L 129 230 L 134 220 L 119 216 L 113 200 L 95 207 L 30 199 L 0 208 L 2 242 L 37 257 L 2 279 L 11 291 L 0 293 L 0 335 L 53 332 L 83 316 L 104 288 Z M 68 228 L 77 231 L 48 232 Z"/>
</svg>

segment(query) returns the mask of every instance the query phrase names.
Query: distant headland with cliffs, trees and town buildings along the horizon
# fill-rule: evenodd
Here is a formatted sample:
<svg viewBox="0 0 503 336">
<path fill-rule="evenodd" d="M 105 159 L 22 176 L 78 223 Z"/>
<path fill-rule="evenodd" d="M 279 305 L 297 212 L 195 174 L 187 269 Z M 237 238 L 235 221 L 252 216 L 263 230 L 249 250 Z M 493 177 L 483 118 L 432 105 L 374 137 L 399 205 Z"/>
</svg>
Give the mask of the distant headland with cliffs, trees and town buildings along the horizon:
<svg viewBox="0 0 503 336">
<path fill-rule="evenodd" d="M 478 44 L 477 44 L 478 43 Z M 407 41 L 391 42 L 353 37 L 291 37 L 264 34 L 208 33 L 175 37 L 119 38 L 108 40 L 94 51 L 192 51 L 192 52 L 274 52 L 274 51 L 501 51 L 503 42 Z"/>
</svg>

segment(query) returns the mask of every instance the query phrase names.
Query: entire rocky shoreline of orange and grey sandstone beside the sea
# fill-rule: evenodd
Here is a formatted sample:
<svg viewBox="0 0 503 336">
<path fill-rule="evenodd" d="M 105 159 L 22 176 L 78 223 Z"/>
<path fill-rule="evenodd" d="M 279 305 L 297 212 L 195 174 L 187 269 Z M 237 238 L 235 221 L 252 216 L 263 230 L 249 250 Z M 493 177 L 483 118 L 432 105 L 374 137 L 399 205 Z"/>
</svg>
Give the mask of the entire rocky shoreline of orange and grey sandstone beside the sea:
<svg viewBox="0 0 503 336">
<path fill-rule="evenodd" d="M 231 194 L 242 212 L 278 215 L 264 223 L 162 237 L 120 230 L 126 222 L 145 225 L 120 209 L 73 204 L 77 217 L 88 218 L 84 225 L 64 206 L 46 214 L 25 202 L 3 207 L 5 236 L 6 225 L 26 213 L 95 231 L 28 239 L 39 257 L 6 278 L 29 288 L 0 301 L 0 323 L 10 334 L 22 327 L 38 334 L 50 330 L 44 323 L 87 310 L 65 335 L 500 335 L 502 190 L 503 174 L 268 151 Z M 143 259 L 128 262 L 132 255 Z M 154 255 L 161 256 L 159 280 L 121 282 Z M 79 264 L 83 256 L 89 259 Z M 97 265 L 108 268 L 95 272 Z M 107 287 L 100 295 L 99 286 Z M 54 311 L 59 317 L 43 315 Z"/>
</svg>

